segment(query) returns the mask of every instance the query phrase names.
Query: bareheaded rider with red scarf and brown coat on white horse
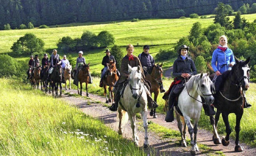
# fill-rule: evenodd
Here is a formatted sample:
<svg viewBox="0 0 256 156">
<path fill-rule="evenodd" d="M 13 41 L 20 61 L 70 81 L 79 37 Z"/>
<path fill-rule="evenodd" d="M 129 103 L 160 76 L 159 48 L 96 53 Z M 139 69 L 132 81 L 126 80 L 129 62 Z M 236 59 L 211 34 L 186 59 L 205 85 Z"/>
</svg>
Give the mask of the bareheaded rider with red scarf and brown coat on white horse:
<svg viewBox="0 0 256 156">
<path fill-rule="evenodd" d="M 115 103 L 112 104 L 112 106 L 110 107 L 111 111 L 116 111 L 118 108 L 118 102 L 120 100 L 120 92 L 122 90 L 123 87 L 125 87 L 127 84 L 127 80 L 129 78 L 129 72 L 128 72 L 128 64 L 131 67 L 137 67 L 140 66 L 141 70 L 142 70 L 142 66 L 140 64 L 140 60 L 139 58 L 137 58 L 136 56 L 132 55 L 133 51 L 134 51 L 134 46 L 132 44 L 129 44 L 126 47 L 126 51 L 127 51 L 127 55 L 124 56 L 124 58 L 122 59 L 121 62 L 121 70 L 120 70 L 120 77 L 118 79 L 118 81 L 115 84 Z M 148 90 L 150 90 L 149 85 L 147 84 L 147 82 L 145 81 L 145 76 L 142 70 L 142 83 L 144 83 L 145 86 L 147 86 Z M 154 100 L 152 99 L 152 97 L 150 96 L 150 94 L 148 94 L 149 92 L 147 92 L 147 98 L 148 98 L 148 105 L 149 107 L 153 107 L 153 108 L 157 108 L 158 105 L 156 104 L 156 102 L 154 102 Z"/>
</svg>

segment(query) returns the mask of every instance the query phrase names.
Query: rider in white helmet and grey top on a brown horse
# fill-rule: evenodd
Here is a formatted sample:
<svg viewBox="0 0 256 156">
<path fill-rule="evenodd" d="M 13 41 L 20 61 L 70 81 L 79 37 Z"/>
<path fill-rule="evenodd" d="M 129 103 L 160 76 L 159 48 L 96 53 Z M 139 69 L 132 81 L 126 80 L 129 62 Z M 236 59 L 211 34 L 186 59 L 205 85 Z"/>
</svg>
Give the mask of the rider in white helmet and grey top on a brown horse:
<svg viewBox="0 0 256 156">
<path fill-rule="evenodd" d="M 74 82 L 73 84 L 75 84 L 76 86 L 78 86 L 78 72 L 80 69 L 82 69 L 82 66 L 84 66 L 86 64 L 85 62 L 85 58 L 83 57 L 83 52 L 79 51 L 78 52 L 78 58 L 76 58 L 76 68 L 74 70 Z M 92 77 L 91 74 L 89 73 L 89 84 L 92 84 Z"/>
</svg>

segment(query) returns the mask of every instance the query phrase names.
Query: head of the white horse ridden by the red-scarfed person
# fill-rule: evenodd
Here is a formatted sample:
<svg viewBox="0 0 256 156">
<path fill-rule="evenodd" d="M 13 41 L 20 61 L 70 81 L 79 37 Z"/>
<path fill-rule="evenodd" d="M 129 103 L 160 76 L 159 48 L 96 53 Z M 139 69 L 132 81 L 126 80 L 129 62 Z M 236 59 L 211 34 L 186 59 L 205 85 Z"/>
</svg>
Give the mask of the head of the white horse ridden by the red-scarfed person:
<svg viewBox="0 0 256 156">
<path fill-rule="evenodd" d="M 128 64 L 128 72 L 130 73 L 129 86 L 132 91 L 132 97 L 137 99 L 139 97 L 139 90 L 141 87 L 141 79 L 142 79 L 140 66 L 132 68 Z"/>
</svg>

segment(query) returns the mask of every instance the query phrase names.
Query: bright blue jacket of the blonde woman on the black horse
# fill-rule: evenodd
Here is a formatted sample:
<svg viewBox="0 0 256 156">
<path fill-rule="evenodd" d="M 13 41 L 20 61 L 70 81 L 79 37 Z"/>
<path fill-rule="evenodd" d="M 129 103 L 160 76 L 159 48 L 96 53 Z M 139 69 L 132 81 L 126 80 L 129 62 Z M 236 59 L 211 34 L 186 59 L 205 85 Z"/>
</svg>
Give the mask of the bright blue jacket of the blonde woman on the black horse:
<svg viewBox="0 0 256 156">
<path fill-rule="evenodd" d="M 227 48 L 225 52 L 217 48 L 212 53 L 212 68 L 214 72 L 219 71 L 220 73 L 226 70 L 231 70 L 229 64 L 235 64 L 235 58 L 232 50 Z"/>
</svg>

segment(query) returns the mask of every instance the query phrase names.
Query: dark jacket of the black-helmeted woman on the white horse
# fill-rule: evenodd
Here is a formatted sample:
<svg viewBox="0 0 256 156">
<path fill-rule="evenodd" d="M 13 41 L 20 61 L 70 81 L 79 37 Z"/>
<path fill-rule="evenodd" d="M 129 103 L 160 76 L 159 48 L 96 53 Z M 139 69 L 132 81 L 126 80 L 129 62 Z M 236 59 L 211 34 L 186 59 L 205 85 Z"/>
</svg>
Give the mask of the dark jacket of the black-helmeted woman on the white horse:
<svg viewBox="0 0 256 156">
<path fill-rule="evenodd" d="M 191 76 L 197 74 L 194 61 L 189 56 L 187 56 L 185 60 L 182 60 L 181 56 L 179 55 L 174 61 L 172 76 L 176 77 L 177 80 L 183 80 L 184 78 L 181 77 L 182 73 L 188 73 Z"/>
</svg>

